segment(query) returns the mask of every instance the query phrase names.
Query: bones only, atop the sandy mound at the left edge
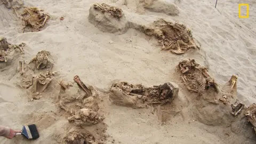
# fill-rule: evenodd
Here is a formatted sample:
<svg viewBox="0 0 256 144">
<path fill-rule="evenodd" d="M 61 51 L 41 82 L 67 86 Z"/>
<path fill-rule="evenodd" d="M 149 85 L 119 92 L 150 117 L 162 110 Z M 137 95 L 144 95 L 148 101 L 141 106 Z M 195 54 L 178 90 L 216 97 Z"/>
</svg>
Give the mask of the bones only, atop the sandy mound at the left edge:
<svg viewBox="0 0 256 144">
<path fill-rule="evenodd" d="M 23 46 L 25 43 L 21 43 L 19 45 L 13 45 L 6 41 L 6 38 L 0 37 L 0 62 L 7 62 L 7 55 L 14 49 L 19 49 L 21 54 L 24 53 Z"/>
</svg>

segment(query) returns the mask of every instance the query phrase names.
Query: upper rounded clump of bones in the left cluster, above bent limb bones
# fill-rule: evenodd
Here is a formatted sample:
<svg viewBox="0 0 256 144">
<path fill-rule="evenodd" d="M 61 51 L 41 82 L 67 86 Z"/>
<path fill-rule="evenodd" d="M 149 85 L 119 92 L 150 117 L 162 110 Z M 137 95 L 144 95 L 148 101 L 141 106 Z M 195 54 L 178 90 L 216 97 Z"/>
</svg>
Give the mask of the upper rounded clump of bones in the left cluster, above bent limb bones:
<svg viewBox="0 0 256 144">
<path fill-rule="evenodd" d="M 28 64 L 31 63 L 31 68 L 33 69 L 52 69 L 53 60 L 51 59 L 51 54 L 49 51 L 39 51 Z"/>
</svg>

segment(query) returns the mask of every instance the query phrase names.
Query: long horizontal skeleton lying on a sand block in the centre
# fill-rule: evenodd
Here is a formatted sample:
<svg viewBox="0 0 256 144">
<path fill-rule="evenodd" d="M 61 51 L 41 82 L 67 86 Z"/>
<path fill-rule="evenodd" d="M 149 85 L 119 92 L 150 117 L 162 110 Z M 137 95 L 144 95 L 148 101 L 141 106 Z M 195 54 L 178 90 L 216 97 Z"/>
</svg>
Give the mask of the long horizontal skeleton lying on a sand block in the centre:
<svg viewBox="0 0 256 144">
<path fill-rule="evenodd" d="M 109 99 L 115 105 L 143 108 L 150 104 L 165 104 L 178 96 L 179 88 L 175 84 L 146 87 L 127 82 L 115 82 L 110 88 Z"/>
</svg>

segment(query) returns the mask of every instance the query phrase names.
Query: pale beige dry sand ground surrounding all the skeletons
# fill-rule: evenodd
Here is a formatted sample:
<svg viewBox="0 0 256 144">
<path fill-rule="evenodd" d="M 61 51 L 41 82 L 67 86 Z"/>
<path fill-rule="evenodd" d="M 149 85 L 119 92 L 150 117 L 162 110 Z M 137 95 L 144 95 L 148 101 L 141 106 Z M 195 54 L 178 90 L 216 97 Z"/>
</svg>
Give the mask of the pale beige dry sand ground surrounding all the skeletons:
<svg viewBox="0 0 256 144">
<path fill-rule="evenodd" d="M 124 17 L 110 19 L 111 15 L 95 11 L 91 7 L 94 3 L 117 6 Z M 249 18 L 238 19 L 238 3 L 249 3 Z M 255 2 L 225 0 L 218 2 L 217 9 L 215 1 L 210 0 L 32 0 L 24 4 L 43 9 L 50 19 L 40 31 L 25 29 L 23 33 L 24 26 L 14 10 L 0 5 L 0 36 L 11 44 L 26 43 L 24 54 L 15 49 L 7 62 L 1 62 L 6 65 L 1 64 L 0 69 L 0 124 L 20 129 L 23 124 L 35 123 L 40 138 L 29 141 L 18 135 L 12 140 L 0 138 L 0 143 L 62 143 L 72 137 L 76 137 L 77 143 L 256 142 L 252 125 L 244 114 L 230 114 L 230 103 L 236 97 L 245 107 L 256 103 Z M 183 54 L 161 51 L 162 44 L 157 46 L 156 38 L 149 34 L 152 31 L 147 31 L 150 28 L 144 27 L 149 35 L 139 30 L 159 18 L 182 23 L 192 31 L 195 39 L 184 41 L 189 46 Z M 50 52 L 45 55 L 51 62 L 42 66 L 53 64 L 51 71 L 55 73 L 36 69 L 36 62 L 35 66 L 31 65 L 33 62 L 28 65 L 41 50 Z M 193 58 L 206 67 L 220 86 L 231 75 L 237 75 L 235 98 L 232 96 L 230 103 L 224 105 L 219 100 L 215 103 L 209 100 L 215 97 L 214 89 L 201 96 L 189 92 L 177 70 L 185 58 Z M 21 63 L 25 60 L 23 72 L 27 78 L 42 72 L 51 79 L 44 91 L 43 86 L 33 85 L 31 89 L 42 90 L 33 96 L 30 89 L 19 86 L 22 76 L 17 63 L 20 60 Z M 75 75 L 88 89 L 83 91 L 77 86 Z M 58 84 L 60 79 L 67 81 L 66 90 Z M 151 106 L 150 102 L 141 106 L 137 105 L 137 98 L 131 97 L 123 104 L 130 103 L 129 106 L 123 107 L 110 92 L 114 82 L 146 86 L 171 82 L 178 85 L 179 93 L 167 106 Z M 84 98 L 85 93 L 91 97 Z M 143 108 L 131 108 L 135 106 Z M 93 118 L 86 117 L 87 114 Z"/>
</svg>

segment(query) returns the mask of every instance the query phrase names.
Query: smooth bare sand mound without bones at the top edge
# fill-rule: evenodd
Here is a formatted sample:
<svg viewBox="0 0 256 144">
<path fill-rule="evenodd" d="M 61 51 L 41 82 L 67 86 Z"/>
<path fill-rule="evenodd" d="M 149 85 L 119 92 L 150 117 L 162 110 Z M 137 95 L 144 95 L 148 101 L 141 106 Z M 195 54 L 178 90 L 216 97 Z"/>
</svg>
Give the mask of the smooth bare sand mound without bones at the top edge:
<svg viewBox="0 0 256 144">
<path fill-rule="evenodd" d="M 157 0 L 145 0 L 145 9 L 151 12 L 165 13 L 167 15 L 178 15 L 178 6 L 169 2 L 157 1 Z"/>
</svg>

